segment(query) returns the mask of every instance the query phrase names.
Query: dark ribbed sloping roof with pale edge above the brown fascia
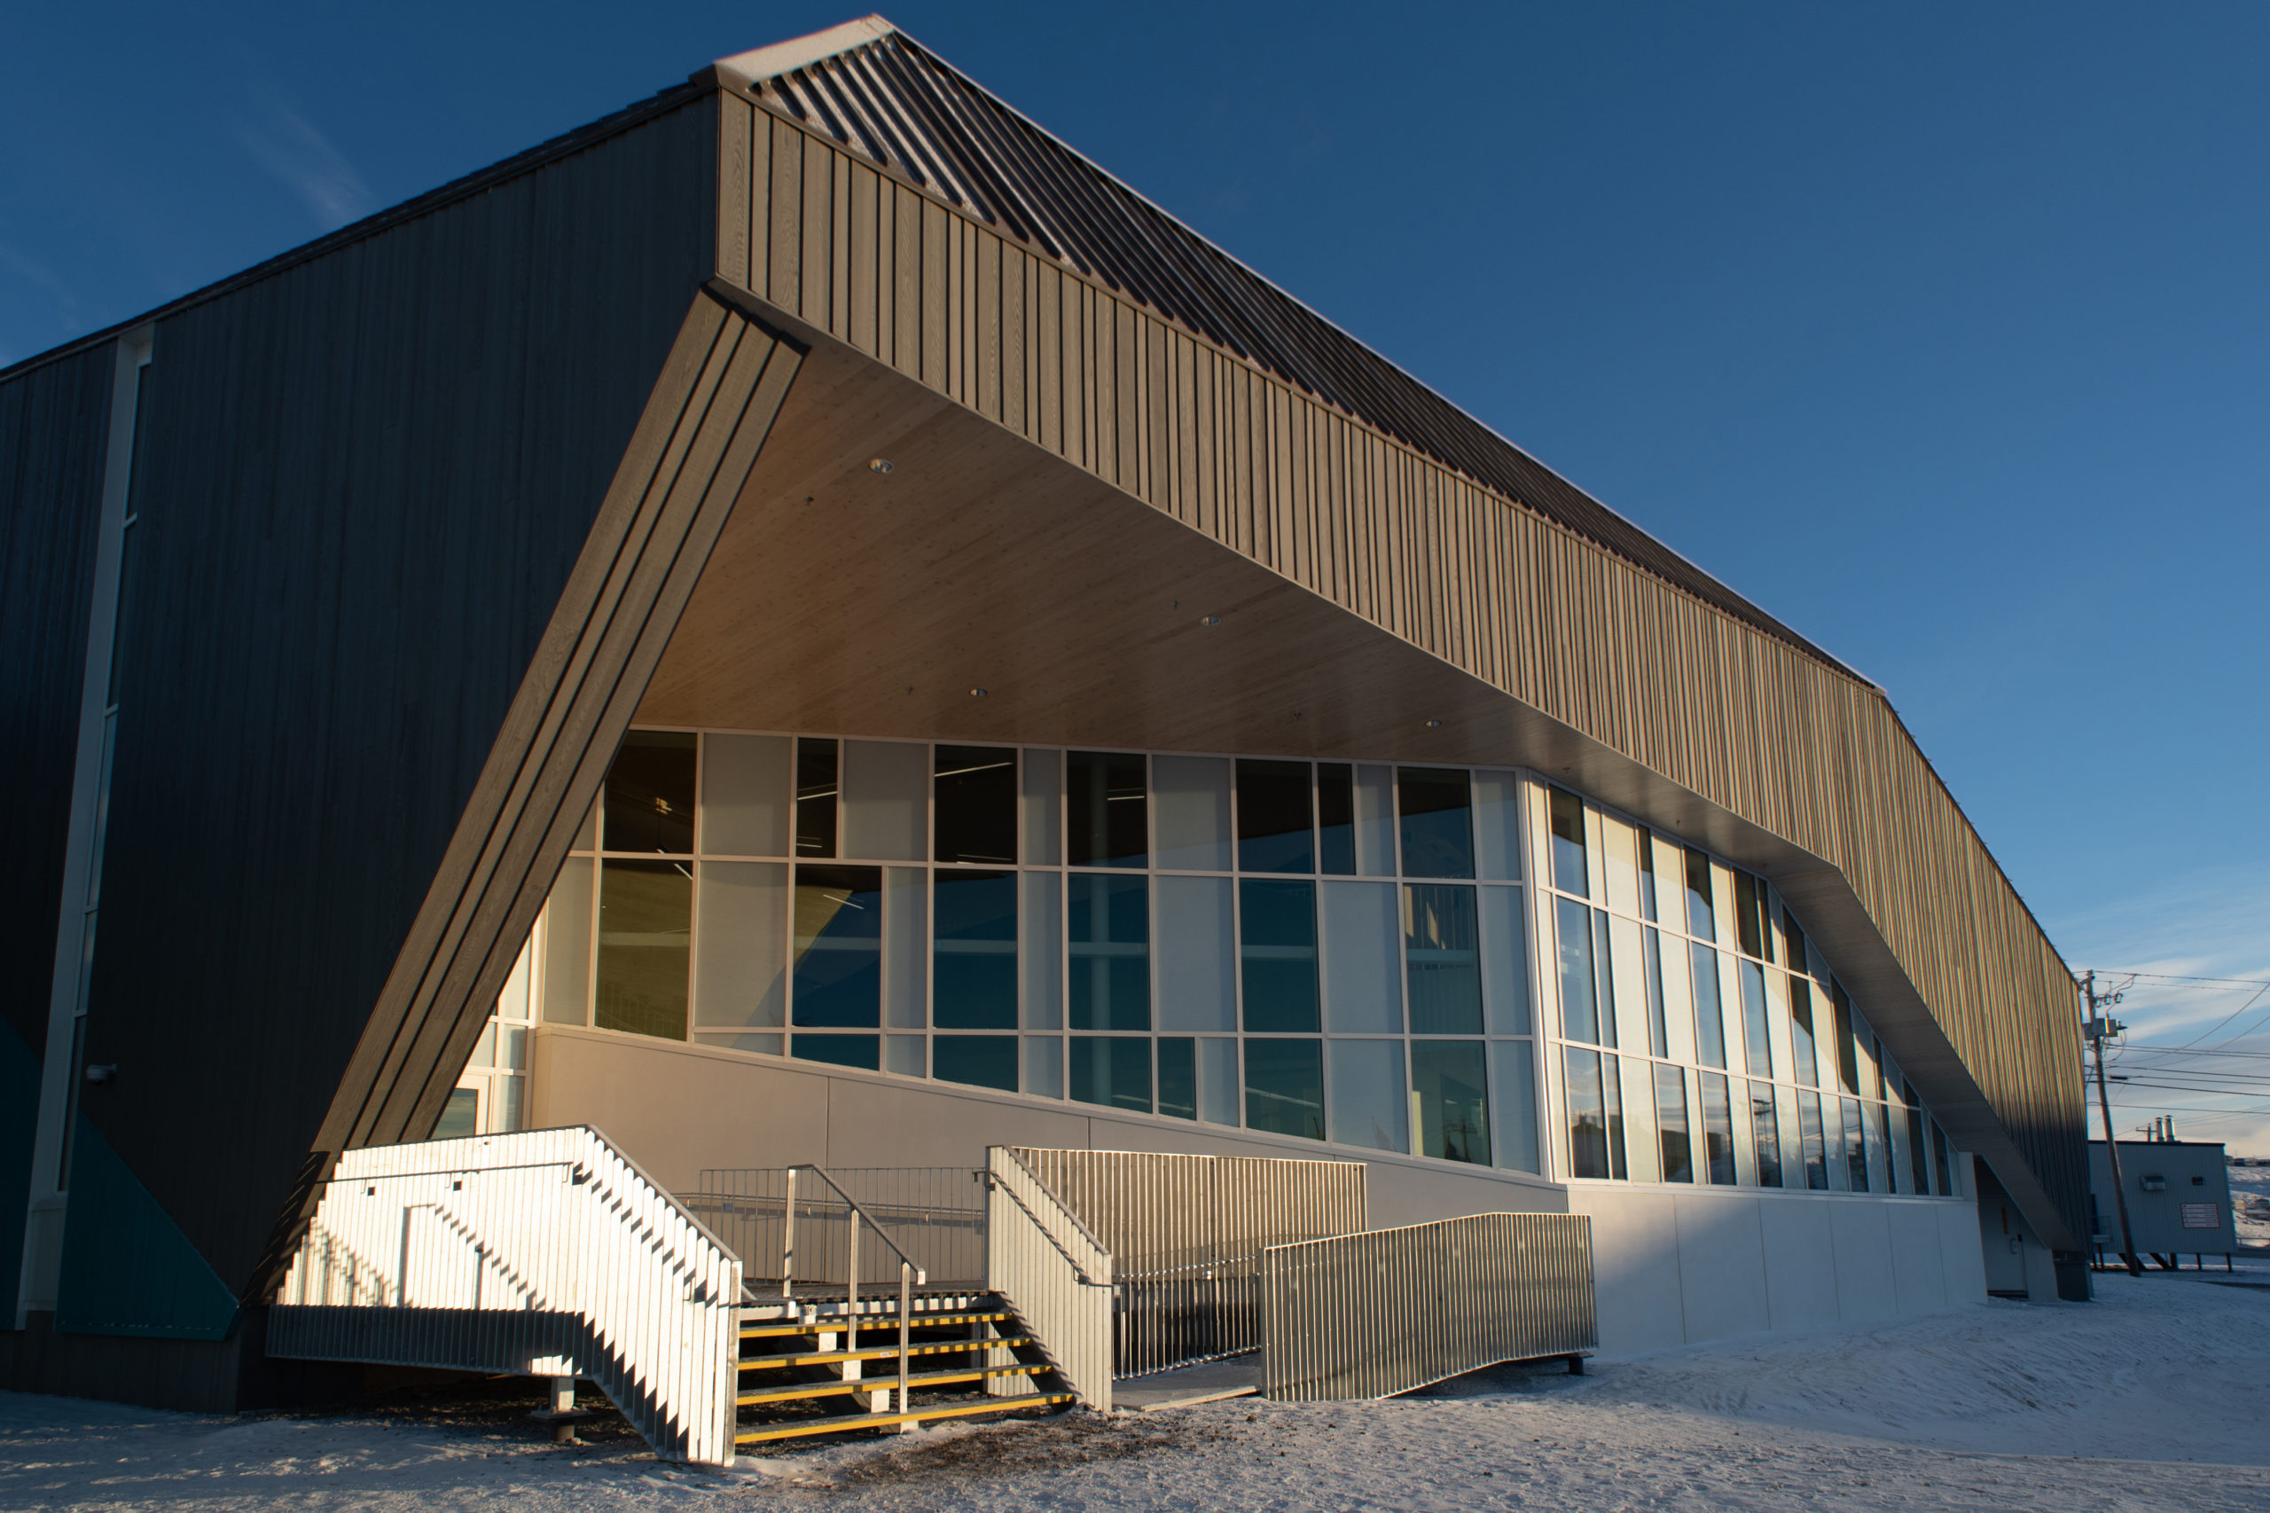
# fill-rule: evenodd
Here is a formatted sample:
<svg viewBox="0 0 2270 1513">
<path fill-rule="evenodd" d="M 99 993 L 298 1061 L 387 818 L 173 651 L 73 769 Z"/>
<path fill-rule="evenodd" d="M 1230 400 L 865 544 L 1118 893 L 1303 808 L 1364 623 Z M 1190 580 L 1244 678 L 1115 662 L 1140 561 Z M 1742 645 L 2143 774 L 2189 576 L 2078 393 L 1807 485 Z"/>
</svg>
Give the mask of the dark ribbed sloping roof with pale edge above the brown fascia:
<svg viewBox="0 0 2270 1513">
<path fill-rule="evenodd" d="M 885 39 L 897 39 L 903 48 L 913 50 L 915 55 L 919 55 L 922 59 L 926 59 L 931 66 L 935 66 L 935 68 L 944 70 L 947 75 L 951 75 L 956 84 L 960 84 L 962 89 L 981 95 L 992 109 L 999 109 L 1001 114 L 1015 118 L 1019 127 L 1024 127 L 1026 132 L 1033 132 L 1035 136 L 1040 136 L 1046 143 L 1051 143 L 1058 152 L 1062 152 L 1069 159 L 1078 161 L 1078 166 L 1083 170 L 1087 170 L 1094 177 L 1099 177 L 1105 184 L 1110 184 L 1110 189 L 1117 195 L 1126 195 L 1128 200 L 1133 200 L 1135 204 L 1140 204 L 1149 216 L 1155 216 L 1158 220 L 1162 220 L 1165 225 L 1169 225 L 1174 232 L 1178 232 L 1180 236 L 1185 236 L 1192 243 L 1196 243 L 1199 248 L 1203 248 L 1205 254 L 1210 254 L 1214 259 L 1221 259 L 1224 264 L 1237 268 L 1239 275 L 1244 275 L 1246 279 L 1251 279 L 1253 284 L 1258 284 L 1271 300 L 1283 300 L 1287 307 L 1292 307 L 1301 316 L 1308 316 L 1308 320 L 1314 320 L 1319 327 L 1328 329 L 1337 341 L 1342 341 L 1348 348 L 1353 348 L 1367 363 L 1376 363 L 1378 368 L 1382 368 L 1382 370 L 1392 373 L 1394 377 L 1398 377 L 1403 384 L 1416 388 L 1432 404 L 1439 404 L 1441 409 L 1446 409 L 1448 413 L 1453 413 L 1457 420 L 1462 420 L 1464 425 L 1473 427 L 1473 432 L 1478 432 L 1482 438 L 1487 438 L 1487 443 L 1491 443 L 1496 448 L 1503 448 L 1507 454 L 1512 454 L 1514 459 L 1519 459 L 1521 463 L 1525 463 L 1528 470 L 1546 475 L 1553 484 L 1557 484 L 1559 488 L 1564 488 L 1571 495 L 1575 495 L 1578 500 L 1582 500 L 1582 511 L 1584 513 L 1594 513 L 1596 511 L 1598 516 L 1603 516 L 1605 518 L 1603 525 L 1607 525 L 1609 529 L 1607 532 L 1603 532 L 1603 529 L 1587 529 L 1587 523 L 1580 520 L 1580 518 L 1569 518 L 1569 511 L 1553 509 L 1553 504 L 1548 504 L 1546 500 L 1528 498 L 1525 491 L 1510 488 L 1503 479 L 1494 479 L 1494 477 L 1487 475 L 1487 470 L 1471 466 L 1466 459 L 1462 459 L 1462 457 L 1455 454 L 1457 448 L 1444 448 L 1444 445 L 1439 445 L 1439 438 L 1430 441 L 1426 436 L 1412 434 L 1412 427 L 1396 425 L 1389 416 L 1378 413 L 1373 407 L 1367 407 L 1367 404 L 1360 404 L 1360 402 L 1351 402 L 1348 395 L 1330 393 L 1328 388 L 1319 386 L 1310 377 L 1303 377 L 1301 373 L 1289 370 L 1285 363 L 1269 361 L 1267 357 L 1258 357 L 1253 352 L 1246 352 L 1235 338 L 1224 338 L 1221 332 L 1205 329 L 1205 325 L 1199 323 L 1199 320 L 1192 320 L 1187 311 L 1176 311 L 1176 309 L 1162 307 L 1158 300 L 1146 298 L 1142 289 L 1133 289 L 1126 279 L 1112 277 L 1110 270 L 1103 270 L 1103 282 L 1110 284 L 1115 291 L 1126 293 L 1126 295 L 1130 295 L 1130 298 L 1149 304 L 1153 311 L 1158 311 L 1160 316 L 1174 320 L 1176 325 L 1183 325 L 1185 329 L 1192 329 L 1194 334 L 1212 341 L 1214 345 L 1228 348 L 1235 357 L 1242 357 L 1242 359 L 1255 363 L 1258 368 L 1262 368 L 1267 373 L 1273 373 L 1283 382 L 1289 382 L 1296 388 L 1301 388 L 1303 393 L 1310 393 L 1310 395 L 1319 398 L 1321 402 L 1332 404 L 1335 409 L 1342 409 L 1351 418 L 1362 420 L 1364 425 L 1369 425 L 1369 427 L 1373 427 L 1373 429 L 1378 429 L 1378 432 L 1382 432 L 1387 436 L 1394 436 L 1403 445 L 1410 445 L 1410 448 L 1414 448 L 1414 450 L 1419 450 L 1419 452 L 1423 452 L 1423 454 L 1428 454 L 1428 457 L 1446 463 L 1455 473 L 1462 473 L 1462 475 L 1471 477 L 1482 488 L 1487 488 L 1491 493 L 1498 493 L 1498 495 L 1503 495 L 1503 498 L 1521 504 L 1523 509 L 1537 511 L 1537 513 L 1546 516 L 1548 520 L 1555 520 L 1555 523 L 1559 523 L 1559 525 L 1578 532 L 1580 536 L 1587 536 L 1589 541 L 1598 543 L 1600 547 L 1609 550 L 1612 554 L 1621 557 L 1623 561 L 1628 561 L 1628 563 L 1632 563 L 1632 566 L 1637 566 L 1637 568 L 1641 568 L 1646 572 L 1655 572 L 1657 577 L 1664 577 L 1666 582 L 1673 582 L 1673 584 L 1687 588 L 1689 593 L 1696 593 L 1707 604 L 1714 604 L 1721 611 L 1734 613 L 1739 620 L 1750 622 L 1752 627 L 1766 632 L 1775 641 L 1784 641 L 1784 643 L 1793 645 L 1796 650 L 1805 652 L 1807 657 L 1811 657 L 1811 659 L 1816 659 L 1816 661 L 1834 668 L 1836 672 L 1841 672 L 1841 675 L 1859 682 L 1861 686 L 1866 686 L 1873 693 L 1877 693 L 1880 697 L 1884 697 L 1886 704 L 1889 704 L 1891 695 L 1889 695 L 1889 691 L 1880 682 L 1875 682 L 1873 677 L 1868 677 L 1866 672 L 1861 672 L 1859 668 L 1855 668 L 1846 659 L 1841 659 L 1841 657 L 1823 650 L 1811 638 L 1800 636 L 1793 627 L 1789 627 L 1780 618 L 1771 616 L 1764 607 L 1755 604 L 1748 595 L 1737 593 L 1732 586 L 1727 586 L 1714 572 L 1709 572 L 1707 568 L 1702 568 L 1700 563 L 1696 563 L 1691 557 L 1687 557 L 1678 547 L 1668 545 L 1666 541 L 1662 541 L 1653 532 L 1643 529 L 1641 525 L 1637 525 L 1623 511 L 1614 509 L 1612 504 L 1605 504 L 1598 495 L 1594 495 L 1591 491 L 1578 486 L 1575 482 L 1571 482 L 1557 468 L 1544 463 L 1537 454 L 1532 454 L 1521 443 L 1510 441 L 1496 427 L 1491 427 L 1489 423 L 1480 420 L 1469 409 L 1464 409 L 1462 404 L 1457 404 L 1455 400 L 1451 400 L 1448 395 L 1444 395 L 1435 386 L 1426 384 L 1423 379 L 1419 379 L 1416 375 L 1412 375 L 1407 368 L 1403 368 L 1394 359 L 1389 359 L 1382 352 L 1378 352 L 1371 343 L 1367 343 L 1367 341 L 1353 336 L 1351 332 L 1346 332 L 1342 325 L 1337 325 L 1335 320 L 1330 320 L 1323 311 L 1319 311 L 1312 304 L 1308 304 L 1301 295 L 1287 291 L 1283 284 L 1278 284 L 1269 275 L 1260 273 L 1258 268 L 1253 268 L 1251 264 L 1246 264 L 1237 254 L 1228 252 L 1226 248 L 1221 248 L 1219 243 L 1214 243 L 1212 239 L 1208 239 L 1203 232 L 1199 232 L 1196 227 L 1192 227 L 1189 223 L 1185 223 L 1180 216 L 1176 216 L 1167 207 L 1158 204 L 1151 195 L 1142 193 L 1140 189 L 1135 189 L 1133 184 L 1128 184 L 1126 179 L 1121 179 L 1112 170 L 1103 168 L 1101 164 L 1096 164 L 1092 157 L 1087 157 L 1085 152 L 1081 152 L 1071 143 L 1067 143 L 1062 136 L 1058 136 L 1049 127 L 1040 125 L 1037 120 L 1033 120 L 1031 116 L 1026 116 L 1024 111 L 1019 111 L 1015 105 L 1010 105 L 1008 100 L 1003 100 L 994 91 L 990 91 L 983 84 L 978 84 L 967 70 L 956 68 L 942 55 L 938 55 L 935 50 L 931 50 L 928 45 L 924 45 L 922 41 L 917 41 L 910 32 L 906 32 L 899 25 L 894 25 L 885 16 L 869 14 L 869 16 L 860 16 L 858 20 L 847 20 L 842 25 L 826 27 L 824 32 L 813 32 L 808 36 L 794 36 L 794 39 L 779 41 L 779 43 L 772 43 L 772 45 L 765 45 L 765 48 L 754 48 L 749 52 L 738 52 L 733 57 L 717 59 L 708 70 L 701 70 L 701 73 L 697 73 L 692 77 L 697 82 L 704 82 L 704 80 L 717 77 L 722 73 L 726 84 L 742 84 L 742 86 L 749 89 L 749 93 L 756 93 L 760 98 L 770 93 L 772 100 L 767 100 L 767 102 L 770 105 L 785 105 L 788 111 L 794 114 L 801 125 L 808 125 L 808 127 L 815 127 L 819 132 L 826 132 L 829 136 L 842 141 L 844 145 L 849 145 L 854 150 L 860 150 L 865 157 L 878 161 L 885 168 L 894 168 L 899 173 L 906 173 L 908 168 L 915 168 L 915 173 L 910 177 L 926 193 L 931 193 L 935 198 L 942 198 L 949 204 L 956 204 L 958 209 L 978 214 L 983 220 L 987 220 L 997 229 L 1001 229 L 1006 234 L 1012 234 L 1022 243 L 1026 243 L 1028 248 L 1035 248 L 1035 250 L 1044 252 L 1051 261 L 1071 266 L 1074 270 L 1081 270 L 1081 273 L 1092 273 L 1067 248 L 1051 245 L 1053 239 L 1046 236 L 1046 232 L 1033 234 L 1037 227 L 1024 227 L 1024 225 L 1015 223 L 1015 220 L 1024 220 L 1024 216 L 1015 216 L 1015 218 L 1012 216 L 1001 216 L 1001 214 L 994 214 L 992 209 L 987 209 L 976 195 L 967 195 L 965 198 L 967 189 L 962 184 L 949 182 L 951 177 L 960 177 L 960 175 L 953 175 L 953 166 L 949 166 L 949 164 L 942 166 L 942 164 L 935 164 L 935 161 L 926 161 L 926 164 L 919 164 L 919 166 L 913 164 L 913 161 L 908 161 L 908 164 L 894 164 L 894 161 L 890 161 L 890 157 L 885 152 L 876 150 L 878 143 L 865 141 L 867 132 L 860 129 L 858 123 L 847 123 L 847 120 L 833 118 L 833 111 L 829 111 L 826 105 L 822 105 L 822 109 L 817 111 L 819 118 L 813 118 L 815 116 L 815 111 L 813 111 L 813 102 L 815 102 L 813 93 L 808 93 L 806 89 L 799 89 L 799 82 L 792 80 L 792 77 L 788 77 L 788 75 L 797 75 L 801 70 L 808 70 L 815 64 L 829 64 L 829 61 L 847 59 L 847 55 L 860 52 L 860 50 L 869 48 L 872 43 L 878 43 L 878 41 L 885 41 Z M 874 86 L 876 82 L 878 80 L 869 80 L 869 86 Z M 770 91 L 760 89 L 765 84 L 770 84 L 772 89 Z M 899 114 L 899 120 L 894 125 L 899 125 L 899 127 L 908 125 L 908 118 L 906 118 L 903 111 Z M 885 127 L 885 132 L 890 132 L 890 127 Z M 928 143 L 928 148 L 931 148 L 931 154 L 935 154 L 935 143 Z M 917 157 L 931 157 L 931 154 L 924 154 L 924 150 L 919 145 L 917 145 L 915 154 Z M 924 168 L 928 168 L 928 173 L 924 173 Z M 944 173 L 940 173 L 940 168 L 944 168 Z M 965 191 L 965 193 L 956 193 L 958 189 Z M 1639 538 L 1639 541 L 1646 543 L 1648 550 L 1634 552 L 1634 550 L 1630 550 L 1630 545 L 1619 545 L 1619 541 L 1614 541 L 1612 536 Z M 1655 554 L 1659 554 L 1664 561 L 1648 561 L 1648 557 L 1655 557 Z"/>
</svg>

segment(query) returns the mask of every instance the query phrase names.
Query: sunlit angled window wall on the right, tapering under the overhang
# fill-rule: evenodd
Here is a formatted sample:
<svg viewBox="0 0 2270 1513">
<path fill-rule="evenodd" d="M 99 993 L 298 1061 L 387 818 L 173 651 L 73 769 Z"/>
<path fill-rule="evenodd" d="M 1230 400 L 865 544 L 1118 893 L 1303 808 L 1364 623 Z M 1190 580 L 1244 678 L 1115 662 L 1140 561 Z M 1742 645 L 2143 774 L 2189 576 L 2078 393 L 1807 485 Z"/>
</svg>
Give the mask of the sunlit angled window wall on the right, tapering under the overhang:
<svg viewBox="0 0 2270 1513">
<path fill-rule="evenodd" d="M 1945 1136 L 1762 877 L 1566 788 L 1530 809 L 1562 1175 L 1952 1195 Z"/>
</svg>

